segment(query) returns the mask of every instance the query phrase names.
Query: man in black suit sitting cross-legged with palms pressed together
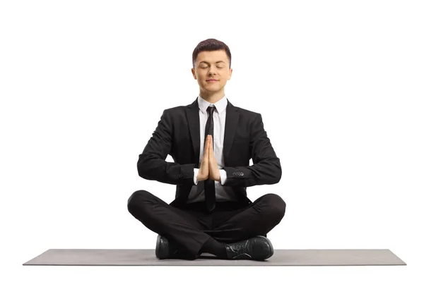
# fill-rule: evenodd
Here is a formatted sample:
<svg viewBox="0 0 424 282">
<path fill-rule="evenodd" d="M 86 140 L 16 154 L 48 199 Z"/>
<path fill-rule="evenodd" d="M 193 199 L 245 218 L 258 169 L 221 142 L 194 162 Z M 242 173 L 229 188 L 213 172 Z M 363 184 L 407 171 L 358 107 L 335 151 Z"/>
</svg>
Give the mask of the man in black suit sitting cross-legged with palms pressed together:
<svg viewBox="0 0 424 282">
<path fill-rule="evenodd" d="M 246 188 L 278 183 L 280 159 L 261 114 L 225 97 L 232 74 L 225 43 L 200 42 L 192 74 L 199 97 L 163 111 L 137 163 L 142 178 L 176 185 L 175 200 L 167 204 L 139 190 L 129 197 L 129 212 L 158 233 L 159 259 L 196 259 L 202 252 L 219 259 L 267 259 L 273 246 L 266 233 L 283 219 L 285 202 L 276 194 L 251 202 Z M 175 162 L 165 161 L 168 154 Z"/>
</svg>

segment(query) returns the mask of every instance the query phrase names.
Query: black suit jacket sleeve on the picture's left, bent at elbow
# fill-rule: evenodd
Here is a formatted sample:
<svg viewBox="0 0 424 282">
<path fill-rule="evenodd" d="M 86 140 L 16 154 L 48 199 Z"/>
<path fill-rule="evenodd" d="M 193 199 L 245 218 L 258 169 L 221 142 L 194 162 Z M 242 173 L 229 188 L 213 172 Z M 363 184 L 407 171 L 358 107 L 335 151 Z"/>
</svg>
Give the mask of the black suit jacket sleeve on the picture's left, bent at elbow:
<svg viewBox="0 0 424 282">
<path fill-rule="evenodd" d="M 172 148 L 172 122 L 169 109 L 163 111 L 158 126 L 143 152 L 139 155 L 137 170 L 147 180 L 173 185 L 194 185 L 196 164 L 177 164 L 165 161 Z"/>
</svg>

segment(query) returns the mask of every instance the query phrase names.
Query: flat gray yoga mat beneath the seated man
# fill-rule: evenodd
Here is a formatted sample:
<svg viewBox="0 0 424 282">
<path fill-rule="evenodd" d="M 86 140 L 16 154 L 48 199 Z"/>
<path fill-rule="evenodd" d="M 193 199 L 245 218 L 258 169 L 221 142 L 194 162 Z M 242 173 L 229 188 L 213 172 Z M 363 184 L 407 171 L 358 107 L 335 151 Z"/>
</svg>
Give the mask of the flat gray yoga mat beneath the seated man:
<svg viewBox="0 0 424 282">
<path fill-rule="evenodd" d="M 23 265 L 75 266 L 144 266 L 144 265 L 211 265 L 211 266 L 358 266 L 406 265 L 390 250 L 274 250 L 265 261 L 226 260 L 203 253 L 198 259 L 158 259 L 155 250 L 49 249 Z"/>
</svg>

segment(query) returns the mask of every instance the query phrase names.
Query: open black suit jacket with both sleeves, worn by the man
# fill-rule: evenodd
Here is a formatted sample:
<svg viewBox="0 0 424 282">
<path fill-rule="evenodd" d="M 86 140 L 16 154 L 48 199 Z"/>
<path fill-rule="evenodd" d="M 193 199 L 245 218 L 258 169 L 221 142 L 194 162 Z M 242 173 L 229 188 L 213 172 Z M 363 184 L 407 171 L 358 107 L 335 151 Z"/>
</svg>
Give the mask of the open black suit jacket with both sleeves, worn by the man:
<svg viewBox="0 0 424 282">
<path fill-rule="evenodd" d="M 226 98 L 224 98 L 226 99 Z M 139 155 L 139 176 L 147 180 L 177 185 L 175 200 L 181 207 L 194 185 L 194 168 L 199 168 L 199 104 L 165 109 L 158 127 Z M 175 162 L 165 161 L 170 154 Z M 261 114 L 227 104 L 223 157 L 227 172 L 225 186 L 235 189 L 242 205 L 251 204 L 246 188 L 275 184 L 281 179 L 280 159 L 264 130 Z M 253 165 L 249 166 L 252 159 Z"/>
</svg>

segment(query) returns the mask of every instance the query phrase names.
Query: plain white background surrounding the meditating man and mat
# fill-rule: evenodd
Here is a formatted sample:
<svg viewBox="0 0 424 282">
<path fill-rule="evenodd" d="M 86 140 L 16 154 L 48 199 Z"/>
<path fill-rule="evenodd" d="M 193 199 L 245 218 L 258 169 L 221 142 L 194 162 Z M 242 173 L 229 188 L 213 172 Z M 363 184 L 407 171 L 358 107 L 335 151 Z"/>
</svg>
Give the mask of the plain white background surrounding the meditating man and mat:
<svg viewBox="0 0 424 282">
<path fill-rule="evenodd" d="M 154 2 L 154 3 L 153 3 Z M 1 281 L 420 281 L 422 1 L 1 1 Z M 199 95 L 192 51 L 232 52 L 225 94 L 262 114 L 287 202 L 275 249 L 389 249 L 408 266 L 22 266 L 50 248 L 155 248 L 127 211 L 175 186 L 136 162 Z M 167 161 L 172 161 L 170 157 Z M 6 278 L 8 276 L 8 278 Z M 413 278 L 415 277 L 415 278 Z"/>
</svg>

